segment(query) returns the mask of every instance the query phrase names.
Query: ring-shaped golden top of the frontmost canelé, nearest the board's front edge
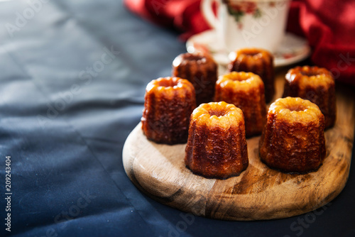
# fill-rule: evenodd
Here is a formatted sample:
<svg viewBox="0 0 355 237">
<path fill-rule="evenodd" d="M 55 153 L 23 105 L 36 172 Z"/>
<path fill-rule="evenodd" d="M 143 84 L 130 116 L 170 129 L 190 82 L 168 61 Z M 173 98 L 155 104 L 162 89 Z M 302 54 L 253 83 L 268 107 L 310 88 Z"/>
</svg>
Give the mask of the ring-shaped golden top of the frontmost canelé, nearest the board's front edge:
<svg viewBox="0 0 355 237">
<path fill-rule="evenodd" d="M 196 121 L 197 126 L 227 130 L 234 124 L 244 124 L 244 115 L 234 104 L 227 104 L 224 101 L 210 102 L 198 106 L 191 114 L 191 121 Z"/>
</svg>

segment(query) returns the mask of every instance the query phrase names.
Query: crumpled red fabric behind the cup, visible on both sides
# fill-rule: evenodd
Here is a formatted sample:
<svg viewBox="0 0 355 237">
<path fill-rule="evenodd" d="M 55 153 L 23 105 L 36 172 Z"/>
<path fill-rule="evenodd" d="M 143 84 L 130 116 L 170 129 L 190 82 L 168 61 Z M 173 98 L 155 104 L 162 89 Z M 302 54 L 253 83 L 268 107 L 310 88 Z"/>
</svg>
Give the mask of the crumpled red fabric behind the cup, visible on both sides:
<svg viewBox="0 0 355 237">
<path fill-rule="evenodd" d="M 175 28 L 182 40 L 209 29 L 200 0 L 125 0 L 131 11 L 160 26 Z M 312 61 L 338 81 L 355 85 L 355 1 L 294 0 L 288 31 L 307 38 Z"/>
</svg>

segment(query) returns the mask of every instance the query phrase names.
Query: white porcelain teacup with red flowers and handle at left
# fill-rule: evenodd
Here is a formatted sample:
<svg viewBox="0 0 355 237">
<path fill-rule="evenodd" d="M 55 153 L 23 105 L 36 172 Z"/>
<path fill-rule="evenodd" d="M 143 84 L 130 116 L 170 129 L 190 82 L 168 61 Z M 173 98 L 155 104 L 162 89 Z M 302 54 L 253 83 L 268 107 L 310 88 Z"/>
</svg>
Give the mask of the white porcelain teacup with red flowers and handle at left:
<svg viewBox="0 0 355 237">
<path fill-rule="evenodd" d="M 275 52 L 285 35 L 289 6 L 290 0 L 202 0 L 201 11 L 227 52 L 251 47 Z"/>
</svg>

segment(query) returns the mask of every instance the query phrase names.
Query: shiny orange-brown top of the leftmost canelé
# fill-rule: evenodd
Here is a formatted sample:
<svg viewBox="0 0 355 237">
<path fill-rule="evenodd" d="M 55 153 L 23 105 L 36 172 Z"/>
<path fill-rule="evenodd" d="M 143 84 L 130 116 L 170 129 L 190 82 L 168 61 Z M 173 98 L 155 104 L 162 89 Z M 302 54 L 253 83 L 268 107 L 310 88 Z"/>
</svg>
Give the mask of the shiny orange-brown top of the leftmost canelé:
<svg viewBox="0 0 355 237">
<path fill-rule="evenodd" d="M 165 98 L 184 97 L 185 94 L 175 93 L 176 91 L 191 92 L 195 94 L 195 88 L 187 79 L 180 77 L 160 77 L 149 82 L 146 87 L 146 93 L 159 93 Z"/>
</svg>

